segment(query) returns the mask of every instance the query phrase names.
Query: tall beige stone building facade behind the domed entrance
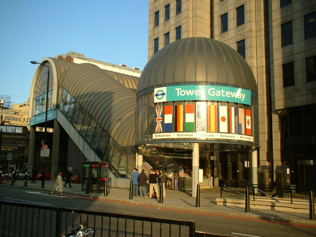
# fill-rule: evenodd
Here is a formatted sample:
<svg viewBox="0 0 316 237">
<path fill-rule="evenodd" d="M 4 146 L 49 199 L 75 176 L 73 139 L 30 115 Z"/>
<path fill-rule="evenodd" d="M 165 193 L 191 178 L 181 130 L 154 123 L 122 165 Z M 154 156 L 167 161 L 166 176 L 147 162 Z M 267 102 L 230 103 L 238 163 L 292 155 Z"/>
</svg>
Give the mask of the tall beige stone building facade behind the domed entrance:
<svg viewBox="0 0 316 237">
<path fill-rule="evenodd" d="M 314 29 L 315 0 L 150 0 L 148 58 L 188 37 L 237 50 L 258 84 L 258 165 L 270 167 L 268 184 L 287 165 L 292 184 L 315 187 Z"/>
</svg>

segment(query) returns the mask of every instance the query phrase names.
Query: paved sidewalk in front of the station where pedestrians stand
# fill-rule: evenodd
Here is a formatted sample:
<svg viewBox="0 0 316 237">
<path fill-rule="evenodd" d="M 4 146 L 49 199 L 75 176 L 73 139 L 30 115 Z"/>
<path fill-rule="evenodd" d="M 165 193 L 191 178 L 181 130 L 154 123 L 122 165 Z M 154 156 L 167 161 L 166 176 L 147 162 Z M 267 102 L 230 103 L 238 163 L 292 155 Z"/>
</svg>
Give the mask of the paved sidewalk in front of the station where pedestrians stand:
<svg viewBox="0 0 316 237">
<path fill-rule="evenodd" d="M 24 180 L 18 180 L 14 186 L 9 184 L 1 184 L 0 187 L 19 187 L 30 190 L 39 190 L 42 192 L 49 192 L 55 184 L 55 181 L 45 181 L 45 188 L 41 188 L 41 181 L 37 180 L 36 184 L 32 184 L 28 181 L 28 186 L 24 187 Z M 191 212 L 207 213 L 210 215 L 226 215 L 249 219 L 260 219 L 260 220 L 272 220 L 284 223 L 303 224 L 316 226 L 315 220 L 309 220 L 309 213 L 298 213 L 298 212 L 286 212 L 286 211 L 275 211 L 275 210 L 264 210 L 255 209 L 250 206 L 250 213 L 245 213 L 244 207 L 236 206 L 225 206 L 216 205 L 216 198 L 220 197 L 220 188 L 213 187 L 212 190 L 201 189 L 200 190 L 200 207 L 196 207 L 196 198 L 192 197 L 192 192 L 166 190 L 166 197 L 163 198 L 163 203 L 159 203 L 159 199 L 133 197 L 129 200 L 129 190 L 121 188 L 108 189 L 108 197 L 104 197 L 104 192 L 95 193 L 90 192 L 85 194 L 85 191 L 81 191 L 81 184 L 72 184 L 72 188 L 68 186 L 63 188 L 63 194 L 80 195 L 83 197 L 90 198 L 104 198 L 113 201 L 122 201 L 129 203 L 137 203 L 141 205 L 150 205 L 156 207 L 163 207 L 166 209 L 176 209 Z M 288 203 L 291 205 L 291 203 Z M 309 205 L 306 203 L 306 205 Z"/>
</svg>

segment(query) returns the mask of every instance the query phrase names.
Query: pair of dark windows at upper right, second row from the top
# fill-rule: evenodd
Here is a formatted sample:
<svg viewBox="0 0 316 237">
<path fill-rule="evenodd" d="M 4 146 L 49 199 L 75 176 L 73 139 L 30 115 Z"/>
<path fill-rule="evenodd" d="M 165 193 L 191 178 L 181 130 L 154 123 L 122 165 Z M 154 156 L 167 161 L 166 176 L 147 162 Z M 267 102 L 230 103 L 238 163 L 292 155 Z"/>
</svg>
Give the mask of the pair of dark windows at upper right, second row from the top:
<svg viewBox="0 0 316 237">
<path fill-rule="evenodd" d="M 304 16 L 305 40 L 316 36 L 316 12 Z M 281 46 L 293 43 L 292 21 L 281 25 Z"/>
</svg>

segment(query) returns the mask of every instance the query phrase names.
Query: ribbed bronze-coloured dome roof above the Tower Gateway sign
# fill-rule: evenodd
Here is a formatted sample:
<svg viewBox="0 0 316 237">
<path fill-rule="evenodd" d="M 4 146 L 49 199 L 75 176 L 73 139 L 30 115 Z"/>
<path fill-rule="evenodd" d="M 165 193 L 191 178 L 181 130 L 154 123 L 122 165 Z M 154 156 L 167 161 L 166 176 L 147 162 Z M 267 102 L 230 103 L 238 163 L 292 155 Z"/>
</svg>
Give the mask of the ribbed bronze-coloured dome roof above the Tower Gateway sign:
<svg viewBox="0 0 316 237">
<path fill-rule="evenodd" d="M 185 38 L 160 49 L 147 63 L 138 92 L 166 84 L 225 84 L 258 92 L 246 60 L 230 46 L 208 38 Z"/>
</svg>

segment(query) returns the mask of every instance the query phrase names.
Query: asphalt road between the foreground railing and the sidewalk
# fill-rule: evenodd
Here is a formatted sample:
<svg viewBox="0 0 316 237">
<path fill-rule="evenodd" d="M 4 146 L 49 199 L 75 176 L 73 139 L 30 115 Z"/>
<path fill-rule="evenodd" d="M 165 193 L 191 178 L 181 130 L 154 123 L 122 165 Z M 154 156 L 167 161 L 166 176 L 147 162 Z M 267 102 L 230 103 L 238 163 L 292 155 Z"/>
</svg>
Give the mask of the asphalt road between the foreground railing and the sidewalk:
<svg viewBox="0 0 316 237">
<path fill-rule="evenodd" d="M 56 194 L 55 196 L 50 196 L 45 191 L 32 191 L 1 186 L 0 200 L 166 219 L 190 220 L 196 221 L 197 231 L 232 237 L 316 236 L 316 226 L 254 220 L 188 210 L 158 208 L 142 203 L 122 203 L 109 199 L 64 195 L 64 197 L 57 196 Z"/>
</svg>

